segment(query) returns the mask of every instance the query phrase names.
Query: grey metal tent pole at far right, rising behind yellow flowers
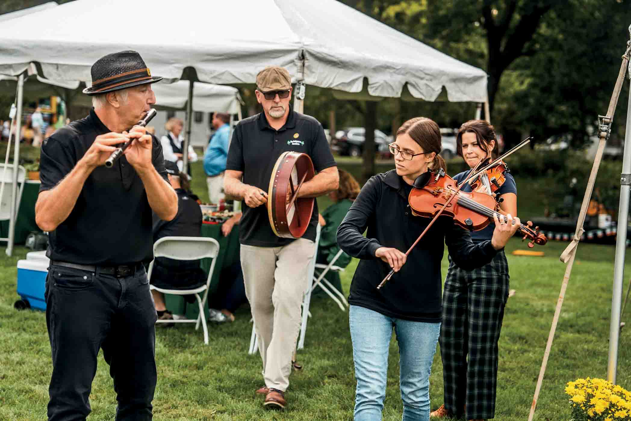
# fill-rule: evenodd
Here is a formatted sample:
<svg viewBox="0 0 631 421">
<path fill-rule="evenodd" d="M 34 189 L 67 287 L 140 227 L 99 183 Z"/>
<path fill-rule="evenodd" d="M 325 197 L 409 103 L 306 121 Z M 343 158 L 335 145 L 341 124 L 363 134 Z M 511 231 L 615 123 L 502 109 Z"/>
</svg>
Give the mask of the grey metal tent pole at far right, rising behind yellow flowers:
<svg viewBox="0 0 631 421">
<path fill-rule="evenodd" d="M 631 77 L 631 68 L 630 74 Z M 631 95 L 627 106 L 627 130 L 620 175 L 620 206 L 618 207 L 618 233 L 616 233 L 616 258 L 613 267 L 613 295 L 611 297 L 611 323 L 609 326 L 609 359 L 607 379 L 616 384 L 618 365 L 618 338 L 620 337 L 620 311 L 622 307 L 623 278 L 625 276 L 625 251 L 627 250 L 627 221 L 629 190 L 631 188 Z"/>
</svg>

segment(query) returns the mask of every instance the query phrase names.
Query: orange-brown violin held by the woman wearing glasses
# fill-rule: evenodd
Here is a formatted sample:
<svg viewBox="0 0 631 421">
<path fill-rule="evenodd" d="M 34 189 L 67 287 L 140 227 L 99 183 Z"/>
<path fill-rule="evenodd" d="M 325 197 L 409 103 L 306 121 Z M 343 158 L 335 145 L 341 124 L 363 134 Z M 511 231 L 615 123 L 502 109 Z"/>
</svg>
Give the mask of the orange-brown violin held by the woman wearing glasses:
<svg viewBox="0 0 631 421">
<path fill-rule="evenodd" d="M 507 217 L 495 211 L 497 204 L 493 196 L 476 191 L 471 193 L 457 191 L 456 180 L 445 174 L 442 168 L 436 172 L 427 171 L 418 176 L 408 196 L 408 201 L 416 216 L 434 217 L 454 193 L 456 193 L 455 199 L 447 204 L 442 214 L 452 217 L 454 223 L 462 228 L 478 231 L 488 226 L 495 215 L 508 222 Z M 548 242 L 546 236 L 539 232 L 539 227 L 533 229 L 531 226 L 533 223 L 530 221 L 526 225 L 519 224 L 519 231 L 524 234 L 522 240 L 528 238 L 530 248 L 533 248 L 535 244 L 545 245 Z"/>
</svg>

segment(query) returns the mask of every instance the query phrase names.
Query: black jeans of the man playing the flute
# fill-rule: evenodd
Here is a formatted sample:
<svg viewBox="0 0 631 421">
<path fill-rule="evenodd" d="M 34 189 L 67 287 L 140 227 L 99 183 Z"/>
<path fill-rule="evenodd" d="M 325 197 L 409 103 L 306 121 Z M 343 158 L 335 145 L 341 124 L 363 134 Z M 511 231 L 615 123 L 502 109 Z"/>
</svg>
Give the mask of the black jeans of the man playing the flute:
<svg viewBox="0 0 631 421">
<path fill-rule="evenodd" d="M 117 278 L 51 265 L 46 324 L 52 352 L 49 421 L 85 420 L 98 350 L 110 366 L 116 420 L 151 420 L 157 314 L 143 267 Z"/>
</svg>

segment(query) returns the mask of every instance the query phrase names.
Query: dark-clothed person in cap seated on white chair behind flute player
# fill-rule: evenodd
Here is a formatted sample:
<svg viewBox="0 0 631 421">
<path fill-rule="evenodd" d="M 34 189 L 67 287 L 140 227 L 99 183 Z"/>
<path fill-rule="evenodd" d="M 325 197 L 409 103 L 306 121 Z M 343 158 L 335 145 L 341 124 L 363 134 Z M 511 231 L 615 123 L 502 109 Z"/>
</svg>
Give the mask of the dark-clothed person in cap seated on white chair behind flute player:
<svg viewBox="0 0 631 421">
<path fill-rule="evenodd" d="M 164 221 L 153 214 L 153 243 L 167 236 L 201 236 L 201 208 L 193 200 L 188 190 L 188 176 L 180 172 L 177 164 L 164 161 L 168 182 L 177 193 L 177 214 L 171 221 Z M 206 274 L 200 267 L 199 260 L 173 260 L 157 257 L 153 262 L 151 285 L 163 289 L 193 289 L 206 283 Z M 159 320 L 172 320 L 173 313 L 167 310 L 164 294 L 151 290 L 153 303 Z"/>
</svg>

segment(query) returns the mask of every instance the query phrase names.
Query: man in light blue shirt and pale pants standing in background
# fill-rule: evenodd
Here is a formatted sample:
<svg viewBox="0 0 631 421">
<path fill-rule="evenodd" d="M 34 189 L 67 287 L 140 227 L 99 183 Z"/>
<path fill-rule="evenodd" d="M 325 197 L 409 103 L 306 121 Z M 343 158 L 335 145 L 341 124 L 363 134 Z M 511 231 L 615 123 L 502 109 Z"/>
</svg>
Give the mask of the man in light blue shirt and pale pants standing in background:
<svg viewBox="0 0 631 421">
<path fill-rule="evenodd" d="M 228 159 L 228 143 L 230 142 L 230 114 L 213 114 L 215 134 L 211 137 L 204 153 L 204 171 L 208 184 L 208 197 L 211 203 L 219 203 L 225 197 L 223 193 L 223 173 Z"/>
</svg>

